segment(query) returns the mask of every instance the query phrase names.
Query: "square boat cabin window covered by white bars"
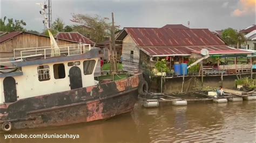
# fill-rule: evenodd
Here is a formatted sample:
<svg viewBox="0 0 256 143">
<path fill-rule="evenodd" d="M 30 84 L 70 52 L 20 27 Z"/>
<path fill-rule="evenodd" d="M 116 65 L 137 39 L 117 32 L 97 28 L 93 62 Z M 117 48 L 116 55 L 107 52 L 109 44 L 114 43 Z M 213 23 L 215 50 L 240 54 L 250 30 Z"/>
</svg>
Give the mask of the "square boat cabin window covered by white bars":
<svg viewBox="0 0 256 143">
<path fill-rule="evenodd" d="M 48 65 L 38 66 L 37 74 L 39 81 L 48 81 L 50 80 L 50 68 Z"/>
</svg>

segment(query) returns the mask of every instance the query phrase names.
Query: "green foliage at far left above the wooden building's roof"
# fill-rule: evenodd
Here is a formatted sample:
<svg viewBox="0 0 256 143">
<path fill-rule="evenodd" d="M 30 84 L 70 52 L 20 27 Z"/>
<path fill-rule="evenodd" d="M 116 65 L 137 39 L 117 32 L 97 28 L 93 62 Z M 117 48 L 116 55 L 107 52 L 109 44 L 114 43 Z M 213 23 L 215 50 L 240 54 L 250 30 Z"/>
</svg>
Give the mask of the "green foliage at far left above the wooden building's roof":
<svg viewBox="0 0 256 143">
<path fill-rule="evenodd" d="M 12 31 L 25 31 L 23 26 L 26 23 L 23 20 L 14 20 L 13 18 L 8 18 L 8 23 L 5 24 L 6 16 L 0 19 L 0 31 L 3 32 L 12 32 Z"/>
</svg>

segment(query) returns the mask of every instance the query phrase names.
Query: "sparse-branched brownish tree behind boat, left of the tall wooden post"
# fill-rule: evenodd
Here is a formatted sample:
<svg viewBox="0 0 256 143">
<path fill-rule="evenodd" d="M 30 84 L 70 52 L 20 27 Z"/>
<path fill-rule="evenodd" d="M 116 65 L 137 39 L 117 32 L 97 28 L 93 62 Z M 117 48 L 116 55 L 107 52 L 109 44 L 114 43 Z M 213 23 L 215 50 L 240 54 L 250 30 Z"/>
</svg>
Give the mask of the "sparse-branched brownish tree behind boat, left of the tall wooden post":
<svg viewBox="0 0 256 143">
<path fill-rule="evenodd" d="M 73 31 L 78 31 L 84 35 L 90 34 L 91 39 L 96 43 L 104 41 L 110 35 L 111 23 L 107 23 L 107 20 L 109 18 L 82 14 L 73 14 L 71 19 L 72 22 L 80 24 L 74 26 Z"/>
</svg>

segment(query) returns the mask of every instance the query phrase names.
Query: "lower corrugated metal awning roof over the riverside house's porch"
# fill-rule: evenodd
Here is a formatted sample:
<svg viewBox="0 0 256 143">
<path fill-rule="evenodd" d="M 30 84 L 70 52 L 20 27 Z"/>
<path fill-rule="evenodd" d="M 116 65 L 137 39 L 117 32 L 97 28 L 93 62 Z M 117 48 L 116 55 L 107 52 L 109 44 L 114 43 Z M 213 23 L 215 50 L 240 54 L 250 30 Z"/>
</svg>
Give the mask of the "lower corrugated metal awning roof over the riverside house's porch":
<svg viewBox="0 0 256 143">
<path fill-rule="evenodd" d="M 208 49 L 210 54 L 250 54 L 253 52 L 241 49 L 232 49 L 228 46 L 184 46 L 184 47 L 139 47 L 147 55 L 151 56 L 172 56 L 172 55 L 191 55 L 200 54 L 201 49 Z"/>
</svg>

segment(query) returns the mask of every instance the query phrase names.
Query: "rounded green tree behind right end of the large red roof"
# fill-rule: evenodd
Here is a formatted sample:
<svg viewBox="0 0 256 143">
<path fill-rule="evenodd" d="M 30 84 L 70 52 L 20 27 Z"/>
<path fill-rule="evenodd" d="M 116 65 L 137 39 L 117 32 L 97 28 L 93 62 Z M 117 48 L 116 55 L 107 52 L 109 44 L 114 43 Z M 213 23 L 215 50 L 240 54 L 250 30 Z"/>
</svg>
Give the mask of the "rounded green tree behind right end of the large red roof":
<svg viewBox="0 0 256 143">
<path fill-rule="evenodd" d="M 244 34 L 237 32 L 233 28 L 223 30 L 222 38 L 228 45 L 241 45 L 245 44 L 246 41 Z"/>
</svg>

